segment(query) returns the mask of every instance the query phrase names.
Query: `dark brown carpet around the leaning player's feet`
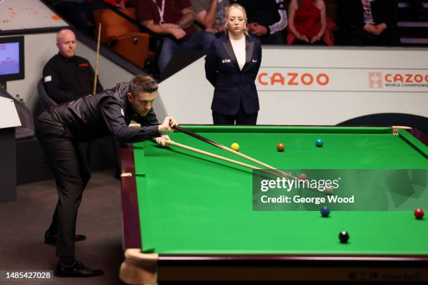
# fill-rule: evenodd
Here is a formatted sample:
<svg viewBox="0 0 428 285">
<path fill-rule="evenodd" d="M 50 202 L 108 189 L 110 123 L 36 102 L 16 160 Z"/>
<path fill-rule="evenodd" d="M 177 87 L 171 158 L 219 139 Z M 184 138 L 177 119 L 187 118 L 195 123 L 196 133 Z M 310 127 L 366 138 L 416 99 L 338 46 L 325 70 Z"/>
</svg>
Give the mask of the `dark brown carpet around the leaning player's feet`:
<svg viewBox="0 0 428 285">
<path fill-rule="evenodd" d="M 16 202 L 0 203 L 0 270 L 55 268 L 55 245 L 44 244 L 43 235 L 57 197 L 55 181 L 45 180 L 18 186 Z M 118 277 L 123 261 L 120 181 L 113 177 L 113 170 L 92 173 L 80 204 L 76 233 L 87 236 L 76 242 L 76 258 L 105 270 L 105 275 L 0 284 L 123 284 Z"/>
</svg>

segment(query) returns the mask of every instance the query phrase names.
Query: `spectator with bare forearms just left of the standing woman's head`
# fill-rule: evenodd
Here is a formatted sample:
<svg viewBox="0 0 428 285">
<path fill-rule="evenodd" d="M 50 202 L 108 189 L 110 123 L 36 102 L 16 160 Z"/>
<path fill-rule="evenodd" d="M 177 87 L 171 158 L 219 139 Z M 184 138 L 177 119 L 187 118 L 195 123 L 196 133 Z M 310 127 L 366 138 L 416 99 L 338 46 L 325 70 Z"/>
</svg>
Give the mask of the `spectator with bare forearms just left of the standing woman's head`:
<svg viewBox="0 0 428 285">
<path fill-rule="evenodd" d="M 224 11 L 229 6 L 229 0 L 190 0 L 190 3 L 196 13 L 197 22 L 205 31 L 213 34 L 224 31 Z"/>
</svg>

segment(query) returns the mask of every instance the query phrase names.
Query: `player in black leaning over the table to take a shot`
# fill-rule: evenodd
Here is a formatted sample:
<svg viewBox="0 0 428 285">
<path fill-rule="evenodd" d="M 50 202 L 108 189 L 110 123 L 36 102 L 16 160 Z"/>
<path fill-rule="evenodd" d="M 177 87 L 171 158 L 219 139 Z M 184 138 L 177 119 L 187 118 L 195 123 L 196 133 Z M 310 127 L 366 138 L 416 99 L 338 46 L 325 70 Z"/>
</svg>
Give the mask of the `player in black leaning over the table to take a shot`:
<svg viewBox="0 0 428 285">
<path fill-rule="evenodd" d="M 119 142 L 140 142 L 156 138 L 165 145 L 177 124 L 166 117 L 159 124 L 152 108 L 157 83 L 150 75 L 136 75 L 129 83 L 119 83 L 97 95 L 88 95 L 43 112 L 36 121 L 36 135 L 57 182 L 59 200 L 52 224 L 45 236 L 57 235 L 56 273 L 59 276 L 88 277 L 103 274 L 87 268 L 74 257 L 76 217 L 83 189 L 90 180 L 90 169 L 80 142 L 113 136 Z M 130 128 L 134 120 L 141 128 Z"/>
</svg>

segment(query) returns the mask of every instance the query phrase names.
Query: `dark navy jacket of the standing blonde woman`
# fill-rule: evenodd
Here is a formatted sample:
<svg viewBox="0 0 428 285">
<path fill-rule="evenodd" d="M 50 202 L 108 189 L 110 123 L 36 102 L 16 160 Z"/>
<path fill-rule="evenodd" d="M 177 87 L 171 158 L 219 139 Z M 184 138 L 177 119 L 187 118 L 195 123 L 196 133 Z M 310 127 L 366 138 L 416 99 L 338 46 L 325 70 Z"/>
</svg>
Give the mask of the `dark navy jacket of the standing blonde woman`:
<svg viewBox="0 0 428 285">
<path fill-rule="evenodd" d="M 255 80 L 261 61 L 262 46 L 257 38 L 245 36 L 245 66 L 242 71 L 227 34 L 211 42 L 205 59 L 205 74 L 215 87 L 211 105 L 214 112 L 236 115 L 241 102 L 247 114 L 259 110 Z"/>
</svg>

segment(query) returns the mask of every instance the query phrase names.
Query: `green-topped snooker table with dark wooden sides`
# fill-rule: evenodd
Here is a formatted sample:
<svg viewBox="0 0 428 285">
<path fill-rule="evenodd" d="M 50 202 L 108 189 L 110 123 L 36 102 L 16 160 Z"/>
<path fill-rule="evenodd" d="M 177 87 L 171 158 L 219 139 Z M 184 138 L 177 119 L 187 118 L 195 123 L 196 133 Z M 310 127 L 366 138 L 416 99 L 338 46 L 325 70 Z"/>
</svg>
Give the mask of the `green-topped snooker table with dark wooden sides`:
<svg viewBox="0 0 428 285">
<path fill-rule="evenodd" d="M 238 142 L 240 152 L 279 169 L 428 169 L 427 137 L 410 128 L 182 127 Z M 184 133 L 170 137 L 255 165 Z M 253 211 L 248 168 L 151 141 L 124 145 L 120 155 L 126 283 L 428 282 L 428 220 L 413 211 L 337 211 L 328 219 Z"/>
</svg>

